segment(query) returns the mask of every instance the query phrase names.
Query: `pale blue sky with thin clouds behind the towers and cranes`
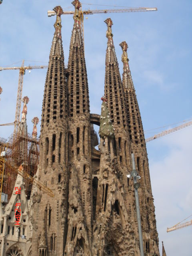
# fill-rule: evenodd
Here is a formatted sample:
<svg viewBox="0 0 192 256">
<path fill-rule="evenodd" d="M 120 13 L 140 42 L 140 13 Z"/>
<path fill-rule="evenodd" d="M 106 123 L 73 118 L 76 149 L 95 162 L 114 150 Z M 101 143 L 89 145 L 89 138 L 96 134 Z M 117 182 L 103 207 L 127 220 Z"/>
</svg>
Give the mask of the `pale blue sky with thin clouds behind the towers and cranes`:
<svg viewBox="0 0 192 256">
<path fill-rule="evenodd" d="M 87 2 L 87 1 L 85 1 Z M 100 114 L 100 98 L 104 93 L 106 24 L 114 23 L 114 45 L 122 74 L 121 48 L 128 43 L 128 58 L 144 130 L 165 126 L 192 118 L 192 1 L 173 0 L 89 0 L 91 4 L 130 7 L 157 7 L 157 12 L 94 14 L 84 19 L 85 58 L 90 91 L 90 110 Z M 71 1 L 8 1 L 0 5 L 0 66 L 48 64 L 54 34 L 55 17 L 48 18 L 47 10 Z M 114 8 L 83 5 L 83 9 Z M 118 8 L 118 7 L 117 7 Z M 71 15 L 62 16 L 62 41 L 65 64 L 68 62 Z M 33 61 L 33 62 L 31 62 Z M 11 65 L 12 63 L 18 62 Z M 28 131 L 32 118 L 41 119 L 46 70 L 28 71 L 24 76 L 23 96 L 28 96 Z M 13 122 L 15 116 L 18 70 L 1 71 L 0 123 Z M 172 126 L 166 127 L 171 128 Z M 38 124 L 38 135 L 40 124 Z M 160 130 L 155 130 L 156 133 Z M 7 138 L 12 126 L 0 127 L 0 137 Z M 146 138 L 153 133 L 146 133 Z M 192 214 L 192 127 L 148 142 L 148 158 L 157 229 L 167 255 L 191 256 L 191 226 L 166 233 L 168 226 Z M 181 246 L 182 245 L 182 246 Z"/>
</svg>

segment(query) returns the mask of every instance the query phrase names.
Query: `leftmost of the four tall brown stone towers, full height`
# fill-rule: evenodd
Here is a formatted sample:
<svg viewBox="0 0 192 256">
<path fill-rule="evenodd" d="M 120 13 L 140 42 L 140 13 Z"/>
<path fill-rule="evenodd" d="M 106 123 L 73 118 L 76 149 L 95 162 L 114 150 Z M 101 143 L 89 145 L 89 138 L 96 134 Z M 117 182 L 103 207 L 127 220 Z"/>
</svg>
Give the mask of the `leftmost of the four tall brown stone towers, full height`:
<svg viewBox="0 0 192 256">
<path fill-rule="evenodd" d="M 44 88 L 44 99 L 42 104 L 42 120 L 40 133 L 40 154 L 39 165 L 37 170 L 37 179 L 44 186 L 54 191 L 54 198 L 37 191 L 41 194 L 40 202 L 35 202 L 32 210 L 32 218 L 38 223 L 46 223 L 46 246 L 49 252 L 54 254 L 57 248 L 57 255 L 62 255 L 65 246 L 64 230 L 67 225 L 68 212 L 68 193 L 64 196 L 60 192 L 61 175 L 63 182 L 68 190 L 68 170 L 66 163 L 67 156 L 67 140 L 68 140 L 68 91 L 67 91 L 67 70 L 64 68 L 64 53 L 62 47 L 61 36 L 61 14 L 63 12 L 60 6 L 54 8 L 56 12 L 56 22 L 54 23 L 54 37 L 49 56 L 49 64 Z M 34 124 L 37 121 L 34 120 Z M 34 126 L 33 136 L 36 136 L 36 128 Z M 38 205 L 40 204 L 40 205 Z M 61 217 L 61 212 L 64 213 Z M 42 227 L 42 226 L 41 226 Z M 56 228 L 59 227 L 59 228 Z M 41 232 L 33 232 L 32 237 L 32 256 L 36 256 L 38 248 L 38 234 Z M 55 240 L 55 232 L 57 239 Z M 44 230 L 42 231 L 42 245 L 38 250 L 40 255 L 46 255 L 47 248 L 44 242 Z M 48 239 L 49 238 L 49 239 Z M 51 238 L 51 239 L 50 239 Z"/>
</svg>

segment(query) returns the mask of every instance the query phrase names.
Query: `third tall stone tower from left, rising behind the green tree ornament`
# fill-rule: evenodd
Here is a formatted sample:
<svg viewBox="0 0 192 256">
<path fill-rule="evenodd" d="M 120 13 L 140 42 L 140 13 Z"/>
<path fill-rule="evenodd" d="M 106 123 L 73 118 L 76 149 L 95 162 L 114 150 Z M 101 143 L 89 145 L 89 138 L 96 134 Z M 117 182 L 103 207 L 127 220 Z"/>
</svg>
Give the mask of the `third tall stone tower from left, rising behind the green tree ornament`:
<svg viewBox="0 0 192 256">
<path fill-rule="evenodd" d="M 118 156 L 118 161 L 127 166 L 130 161 L 129 155 L 129 137 L 128 137 L 128 122 L 126 115 L 126 103 L 124 92 L 116 58 L 113 34 L 112 20 L 110 18 L 104 21 L 107 24 L 106 37 L 108 39 L 106 49 L 106 67 L 105 67 L 105 98 L 108 102 L 108 110 L 110 112 L 111 122 L 115 130 L 115 138 L 113 139 L 114 155 Z"/>
</svg>

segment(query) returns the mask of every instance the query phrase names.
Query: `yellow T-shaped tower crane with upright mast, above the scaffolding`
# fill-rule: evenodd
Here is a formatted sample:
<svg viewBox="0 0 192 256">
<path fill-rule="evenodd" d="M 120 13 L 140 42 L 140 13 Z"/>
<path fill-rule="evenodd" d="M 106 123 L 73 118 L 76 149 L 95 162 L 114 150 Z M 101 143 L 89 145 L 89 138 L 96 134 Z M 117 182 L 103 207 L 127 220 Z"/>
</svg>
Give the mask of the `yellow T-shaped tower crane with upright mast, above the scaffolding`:
<svg viewBox="0 0 192 256">
<path fill-rule="evenodd" d="M 18 90 L 17 90 L 17 101 L 16 101 L 16 112 L 15 112 L 15 121 L 14 121 L 14 134 L 18 132 L 18 127 L 20 123 L 20 113 L 21 113 L 21 100 L 22 100 L 22 90 L 23 90 L 23 76 L 25 74 L 25 70 L 31 70 L 36 68 L 48 68 L 48 66 L 24 66 L 24 60 L 22 61 L 22 65 L 20 67 L 9 67 L 2 68 L 0 67 L 0 71 L 2 70 L 19 70 L 19 82 L 18 82 Z"/>
</svg>

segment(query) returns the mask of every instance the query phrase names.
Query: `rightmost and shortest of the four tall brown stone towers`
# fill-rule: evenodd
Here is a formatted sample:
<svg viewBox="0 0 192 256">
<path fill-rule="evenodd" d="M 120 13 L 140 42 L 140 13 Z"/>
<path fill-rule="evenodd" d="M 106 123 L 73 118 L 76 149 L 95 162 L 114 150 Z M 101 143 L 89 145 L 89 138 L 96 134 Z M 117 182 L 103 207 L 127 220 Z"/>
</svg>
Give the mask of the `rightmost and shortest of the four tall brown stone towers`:
<svg viewBox="0 0 192 256">
<path fill-rule="evenodd" d="M 128 129 L 131 141 L 131 150 L 135 155 L 136 169 L 141 176 L 140 180 L 140 196 L 141 202 L 141 220 L 143 226 L 143 240 L 146 244 L 146 252 L 158 254 L 158 233 L 156 229 L 156 220 L 154 214 L 153 196 L 150 182 L 150 173 L 148 165 L 148 157 L 146 152 L 146 145 L 144 140 L 144 131 L 142 126 L 141 115 L 136 98 L 136 93 L 131 77 L 131 72 L 127 57 L 127 43 L 124 41 L 120 43 L 122 48 L 122 62 L 123 62 L 123 90 L 126 98 L 126 108 L 128 116 Z M 128 180 L 128 182 L 130 182 Z M 153 240 L 153 246 L 150 246 Z"/>
</svg>

